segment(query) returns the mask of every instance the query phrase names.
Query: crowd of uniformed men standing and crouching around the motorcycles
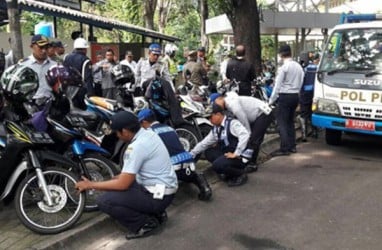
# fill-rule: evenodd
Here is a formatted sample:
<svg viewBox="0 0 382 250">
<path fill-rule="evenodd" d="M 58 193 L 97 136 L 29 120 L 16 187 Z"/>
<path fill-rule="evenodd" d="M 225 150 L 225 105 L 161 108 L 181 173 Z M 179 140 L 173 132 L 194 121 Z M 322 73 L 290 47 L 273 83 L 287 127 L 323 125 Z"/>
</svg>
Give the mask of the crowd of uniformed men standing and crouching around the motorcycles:
<svg viewBox="0 0 382 250">
<path fill-rule="evenodd" d="M 131 51 L 126 51 L 125 59 L 118 62 L 114 51 L 108 49 L 94 65 L 87 57 L 89 44 L 81 37 L 74 40 L 74 50 L 65 56 L 62 42 L 50 42 L 43 35 L 34 35 L 30 47 L 31 55 L 20 64 L 30 67 L 39 76 L 39 89 L 33 99 L 40 106 L 51 98 L 45 74 L 57 63 L 73 67 L 82 75 L 84 85 L 73 100 L 73 105 L 78 108 L 86 109 L 86 95 L 116 99 L 111 69 L 117 64 L 131 68 L 135 87 L 142 91 L 141 94 L 150 95 L 149 86 L 159 77 L 163 84 L 167 84 L 165 90 L 175 95 L 175 47 L 166 48 L 165 56 L 161 58 L 161 45 L 153 43 L 148 48 L 147 58 L 141 58 L 138 62 L 133 61 Z M 143 109 L 137 115 L 129 111 L 116 113 L 111 119 L 111 129 L 121 141 L 128 143 L 120 162 L 121 173 L 112 180 L 102 182 L 83 177 L 77 183 L 77 189 L 104 190 L 105 193 L 98 199 L 100 210 L 128 228 L 127 239 L 140 238 L 156 232 L 164 224 L 166 208 L 174 199 L 178 181 L 195 184 L 200 191 L 200 200 L 211 199 L 212 190 L 207 180 L 193 167 L 201 154 L 211 162 L 212 169 L 229 187 L 245 184 L 247 174 L 258 169 L 258 154 L 273 115 L 278 121 L 281 142 L 272 156 L 296 153 L 295 112 L 300 104 L 304 124 L 310 119 L 312 74 L 319 57 L 315 56 L 304 71 L 292 59 L 290 46 L 281 46 L 279 55 L 283 64 L 276 75 L 272 95 L 268 102 L 264 102 L 251 96 L 255 70 L 245 58 L 245 47 L 236 47 L 236 55 L 226 60 L 221 75 L 225 81 L 238 81 L 239 91 L 210 95 L 207 116 L 212 125 L 211 131 L 190 152 L 184 150 L 173 128 L 157 121 L 152 110 Z M 204 47 L 187 53 L 187 63 L 183 67 L 185 81 L 191 81 L 196 87 L 205 85 L 208 70 Z M 278 106 L 276 114 L 270 108 L 275 103 Z M 175 103 L 171 107 L 176 106 Z"/>
</svg>

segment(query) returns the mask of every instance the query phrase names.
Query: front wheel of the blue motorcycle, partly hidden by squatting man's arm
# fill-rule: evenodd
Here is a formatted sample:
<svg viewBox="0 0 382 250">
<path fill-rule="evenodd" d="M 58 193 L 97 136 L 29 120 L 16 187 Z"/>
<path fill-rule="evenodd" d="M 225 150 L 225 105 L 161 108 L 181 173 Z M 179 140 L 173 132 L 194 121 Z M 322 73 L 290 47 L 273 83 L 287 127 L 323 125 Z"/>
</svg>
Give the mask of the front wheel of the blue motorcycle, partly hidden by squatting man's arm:
<svg viewBox="0 0 382 250">
<path fill-rule="evenodd" d="M 117 166 L 102 155 L 88 153 L 83 156 L 83 162 L 92 181 L 107 181 L 120 173 Z M 99 190 L 87 190 L 85 211 L 98 210 L 97 198 L 103 193 Z"/>
</svg>

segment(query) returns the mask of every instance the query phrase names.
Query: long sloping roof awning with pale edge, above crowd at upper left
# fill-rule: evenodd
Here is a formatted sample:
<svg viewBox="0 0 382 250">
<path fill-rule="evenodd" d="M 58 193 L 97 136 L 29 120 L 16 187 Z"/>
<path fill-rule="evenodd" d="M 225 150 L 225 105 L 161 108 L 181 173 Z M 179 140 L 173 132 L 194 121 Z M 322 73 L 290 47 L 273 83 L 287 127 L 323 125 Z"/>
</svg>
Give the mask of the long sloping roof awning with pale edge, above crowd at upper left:
<svg viewBox="0 0 382 250">
<path fill-rule="evenodd" d="M 165 35 L 154 30 L 142 28 L 136 25 L 128 24 L 107 17 L 98 16 L 95 14 L 85 13 L 78 10 L 73 10 L 66 7 L 61 7 L 49 3 L 38 2 L 34 0 L 19 0 L 19 7 L 23 10 L 39 12 L 50 16 L 62 17 L 80 23 L 93 25 L 99 28 L 112 30 L 119 29 L 131 33 L 140 34 L 143 36 L 166 40 L 170 42 L 180 41 L 174 36 Z"/>
</svg>

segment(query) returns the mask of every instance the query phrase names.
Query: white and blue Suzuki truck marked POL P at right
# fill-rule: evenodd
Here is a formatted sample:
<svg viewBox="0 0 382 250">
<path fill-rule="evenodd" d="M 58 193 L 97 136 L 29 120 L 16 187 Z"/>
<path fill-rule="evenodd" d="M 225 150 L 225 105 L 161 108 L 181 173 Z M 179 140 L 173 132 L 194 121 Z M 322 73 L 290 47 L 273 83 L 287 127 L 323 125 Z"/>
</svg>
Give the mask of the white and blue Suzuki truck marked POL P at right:
<svg viewBox="0 0 382 250">
<path fill-rule="evenodd" d="M 342 14 L 316 73 L 312 124 L 329 145 L 343 132 L 382 135 L 382 15 Z"/>
</svg>

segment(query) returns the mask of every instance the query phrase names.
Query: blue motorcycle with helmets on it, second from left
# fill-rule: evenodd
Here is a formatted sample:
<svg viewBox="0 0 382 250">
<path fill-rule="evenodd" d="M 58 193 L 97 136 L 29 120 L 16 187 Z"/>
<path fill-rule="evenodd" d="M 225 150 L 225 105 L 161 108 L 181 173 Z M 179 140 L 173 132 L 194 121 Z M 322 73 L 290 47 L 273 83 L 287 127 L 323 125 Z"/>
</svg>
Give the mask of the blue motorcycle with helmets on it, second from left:
<svg viewBox="0 0 382 250">
<path fill-rule="evenodd" d="M 5 117 L 12 121 L 24 123 L 25 126 L 33 127 L 37 131 L 47 132 L 54 142 L 49 149 L 76 163 L 76 167 L 69 170 L 78 176 L 102 181 L 111 179 L 118 174 L 119 171 L 114 163 L 104 157 L 109 153 L 86 140 L 80 130 L 71 128 L 67 122 L 66 115 L 70 111 L 70 101 L 65 96 L 66 87 L 69 84 L 81 85 L 81 75 L 74 69 L 62 65 L 50 68 L 46 79 L 48 85 L 52 87 L 54 97 L 42 103 L 41 106 L 43 107 L 39 108 L 34 102 L 28 101 L 28 98 L 15 98 L 15 93 L 18 93 L 24 85 L 31 87 L 34 83 L 35 87 L 31 88 L 31 91 L 36 90 L 36 86 L 38 86 L 38 78 L 34 72 L 30 72 L 31 69 L 25 66 L 16 66 L 16 69 L 18 71 L 9 77 L 1 78 L 2 89 L 8 104 Z M 20 108 L 15 109 L 14 107 Z M 17 110 L 22 111 L 27 116 L 17 117 Z M 99 194 L 100 192 L 93 190 L 87 192 L 86 210 L 98 208 L 96 198 Z"/>
</svg>

